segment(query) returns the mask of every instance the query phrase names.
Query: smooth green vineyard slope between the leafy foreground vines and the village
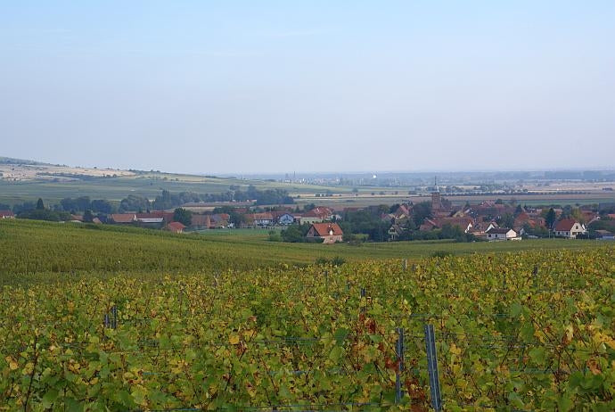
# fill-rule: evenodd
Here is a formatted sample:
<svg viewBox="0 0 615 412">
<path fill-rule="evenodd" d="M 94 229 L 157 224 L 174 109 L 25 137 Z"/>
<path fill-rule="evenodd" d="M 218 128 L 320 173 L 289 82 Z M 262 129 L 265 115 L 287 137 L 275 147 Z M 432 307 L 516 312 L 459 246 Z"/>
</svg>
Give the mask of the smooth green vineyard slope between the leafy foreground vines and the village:
<svg viewBox="0 0 615 412">
<path fill-rule="evenodd" d="M 272 243 L 265 230 L 211 230 L 172 235 L 134 227 L 0 220 L 0 284 L 36 274 L 172 274 L 307 265 L 317 259 L 410 259 L 436 251 L 453 254 L 527 250 L 591 250 L 598 241 L 533 240 L 506 243 L 397 242 L 349 244 Z M 39 279 L 40 280 L 40 279 Z"/>
</svg>

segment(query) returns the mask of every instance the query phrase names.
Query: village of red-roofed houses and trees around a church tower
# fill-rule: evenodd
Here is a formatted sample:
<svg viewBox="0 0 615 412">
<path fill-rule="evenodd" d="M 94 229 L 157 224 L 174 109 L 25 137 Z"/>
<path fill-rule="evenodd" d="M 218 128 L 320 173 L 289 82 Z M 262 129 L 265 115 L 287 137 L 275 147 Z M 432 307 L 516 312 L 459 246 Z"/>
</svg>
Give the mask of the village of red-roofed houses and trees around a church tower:
<svg viewBox="0 0 615 412">
<path fill-rule="evenodd" d="M 95 201 L 94 201 L 95 202 Z M 42 205 L 39 200 L 37 209 Z M 455 206 L 438 190 L 430 202 L 404 202 L 365 208 L 292 205 L 239 206 L 225 204 L 197 212 L 199 204 L 186 203 L 170 210 L 135 210 L 121 213 L 71 213 L 63 221 L 162 229 L 176 234 L 217 229 L 272 229 L 288 232 L 275 237 L 286 242 L 396 242 L 404 240 L 455 239 L 458 242 L 521 241 L 523 238 L 557 237 L 613 240 L 615 213 L 611 204 L 572 208 L 534 208 L 516 202 L 466 202 Z M 45 206 L 42 205 L 43 210 Z M 191 210 L 192 209 L 192 210 Z M 40 210 L 40 211 L 43 211 Z M 36 210 L 35 210 L 36 211 Z M 28 218 L 12 210 L 0 210 L 0 218 Z M 33 218 L 33 217 L 29 217 Z M 34 217 L 36 218 L 36 217 Z M 43 218 L 45 219 L 45 218 Z M 357 223 L 358 222 L 358 223 Z M 297 232 L 294 237 L 291 228 Z M 295 233 L 293 232 L 293 233 Z M 272 240 L 274 237 L 272 236 Z"/>
</svg>

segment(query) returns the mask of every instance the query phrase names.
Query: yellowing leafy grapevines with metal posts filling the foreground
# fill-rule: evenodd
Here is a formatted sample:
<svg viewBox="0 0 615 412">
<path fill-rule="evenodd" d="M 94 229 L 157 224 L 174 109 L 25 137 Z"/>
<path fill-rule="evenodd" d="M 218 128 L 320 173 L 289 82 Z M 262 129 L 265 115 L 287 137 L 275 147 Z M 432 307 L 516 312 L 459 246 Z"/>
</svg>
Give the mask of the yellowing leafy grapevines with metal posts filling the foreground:
<svg viewBox="0 0 615 412">
<path fill-rule="evenodd" d="M 6 285 L 0 410 L 611 411 L 613 252 Z"/>
</svg>

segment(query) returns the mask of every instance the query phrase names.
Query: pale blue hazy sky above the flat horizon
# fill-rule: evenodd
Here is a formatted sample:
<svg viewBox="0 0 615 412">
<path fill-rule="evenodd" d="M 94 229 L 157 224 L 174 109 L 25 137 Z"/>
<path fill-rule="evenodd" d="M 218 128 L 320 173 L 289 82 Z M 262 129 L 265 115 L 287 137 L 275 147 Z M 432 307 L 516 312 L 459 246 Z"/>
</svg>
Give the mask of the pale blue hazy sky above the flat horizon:
<svg viewBox="0 0 615 412">
<path fill-rule="evenodd" d="M 0 155 L 613 168 L 615 1 L 1 1 Z"/>
</svg>

